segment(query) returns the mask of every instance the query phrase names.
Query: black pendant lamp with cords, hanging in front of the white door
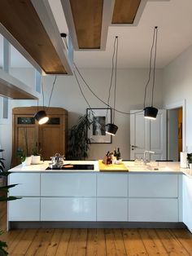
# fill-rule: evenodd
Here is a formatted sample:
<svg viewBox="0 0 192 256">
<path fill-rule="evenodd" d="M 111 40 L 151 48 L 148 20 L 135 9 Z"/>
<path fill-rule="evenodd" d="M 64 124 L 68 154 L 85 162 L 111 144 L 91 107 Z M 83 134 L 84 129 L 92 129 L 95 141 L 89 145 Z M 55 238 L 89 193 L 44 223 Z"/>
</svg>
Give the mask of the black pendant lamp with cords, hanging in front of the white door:
<svg viewBox="0 0 192 256">
<path fill-rule="evenodd" d="M 151 80 L 151 64 L 152 64 L 152 53 L 153 49 L 155 47 L 155 53 L 154 53 L 154 64 L 153 64 L 153 84 L 152 84 L 152 96 L 151 96 L 151 107 L 145 106 L 146 101 L 146 89 L 145 89 L 145 96 L 144 96 L 144 117 L 147 119 L 155 120 L 157 117 L 158 109 L 153 106 L 153 98 L 154 98 L 154 86 L 155 86 L 155 64 L 156 64 L 156 51 L 157 51 L 157 29 L 158 27 L 155 26 L 154 33 L 153 33 L 153 42 L 151 46 L 151 56 L 150 56 L 150 71 L 149 71 L 149 80 L 146 84 L 146 88 Z"/>
</svg>

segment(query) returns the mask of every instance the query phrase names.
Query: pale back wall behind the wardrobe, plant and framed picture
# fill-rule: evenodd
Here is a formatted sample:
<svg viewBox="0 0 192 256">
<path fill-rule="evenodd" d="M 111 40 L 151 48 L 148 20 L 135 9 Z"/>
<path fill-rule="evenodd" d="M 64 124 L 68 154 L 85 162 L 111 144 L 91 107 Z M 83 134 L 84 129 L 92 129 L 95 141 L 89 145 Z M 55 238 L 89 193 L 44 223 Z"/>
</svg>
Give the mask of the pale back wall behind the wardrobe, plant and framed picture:
<svg viewBox="0 0 192 256">
<path fill-rule="evenodd" d="M 17 70 L 19 72 L 19 70 Z M 22 73 L 22 70 L 20 70 Z M 23 76 L 28 72 L 23 72 Z M 81 73 L 85 77 L 89 86 L 94 92 L 104 101 L 107 102 L 108 89 L 110 84 L 111 69 L 82 69 Z M 18 76 L 20 76 L 18 74 Z M 118 69 L 117 71 L 117 90 L 116 90 L 116 108 L 129 112 L 130 109 L 143 108 L 143 95 L 148 76 L 148 69 Z M 24 77 L 26 79 L 27 77 Z M 45 93 L 45 105 L 47 106 L 50 90 L 55 76 L 43 77 L 43 86 Z M 85 92 L 86 98 L 89 100 L 91 108 L 106 108 L 106 106 L 98 101 L 81 82 L 82 89 Z M 151 104 L 151 89 L 149 89 L 149 97 L 147 103 Z M 113 93 L 111 92 L 111 96 Z M 111 101 L 112 102 L 112 101 Z M 18 106 L 36 105 L 36 100 L 11 100 L 11 108 Z M 42 104 L 42 101 L 40 101 Z M 158 108 L 162 107 L 162 70 L 156 72 L 155 83 L 155 99 L 154 105 Z M 83 99 L 79 87 L 73 76 L 58 76 L 55 83 L 55 90 L 50 102 L 51 107 L 61 107 L 68 110 L 68 127 L 74 125 L 81 115 L 84 115 L 86 108 L 89 108 Z M 107 150 L 112 150 L 114 147 L 120 147 L 123 158 L 129 158 L 129 115 L 116 113 L 115 123 L 119 126 L 117 135 L 112 138 L 112 144 L 91 144 L 89 159 L 102 158 Z M 9 125 L 10 126 L 10 125 Z M 7 133 L 7 138 L 10 138 L 10 127 Z M 1 135 L 0 135 L 1 139 Z M 4 148 L 7 147 L 6 145 Z M 7 152 L 9 158 L 11 156 L 10 148 Z"/>
</svg>

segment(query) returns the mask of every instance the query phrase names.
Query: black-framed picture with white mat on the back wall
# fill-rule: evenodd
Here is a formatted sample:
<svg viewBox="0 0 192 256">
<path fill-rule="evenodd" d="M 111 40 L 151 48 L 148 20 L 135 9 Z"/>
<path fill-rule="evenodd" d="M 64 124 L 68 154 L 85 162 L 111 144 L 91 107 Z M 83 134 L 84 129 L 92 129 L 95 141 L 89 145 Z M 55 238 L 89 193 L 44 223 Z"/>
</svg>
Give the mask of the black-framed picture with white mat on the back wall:
<svg viewBox="0 0 192 256">
<path fill-rule="evenodd" d="M 111 135 L 105 133 L 105 126 L 111 123 L 111 108 L 87 108 L 87 114 L 93 118 L 87 130 L 90 143 L 111 143 Z"/>
</svg>

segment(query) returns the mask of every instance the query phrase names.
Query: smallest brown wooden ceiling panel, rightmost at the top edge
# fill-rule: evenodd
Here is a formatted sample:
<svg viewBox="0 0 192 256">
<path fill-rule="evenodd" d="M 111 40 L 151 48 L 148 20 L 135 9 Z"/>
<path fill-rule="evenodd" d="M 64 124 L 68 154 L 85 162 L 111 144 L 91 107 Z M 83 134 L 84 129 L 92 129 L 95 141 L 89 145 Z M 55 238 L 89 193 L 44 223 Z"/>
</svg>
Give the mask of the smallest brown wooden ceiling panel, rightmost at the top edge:
<svg viewBox="0 0 192 256">
<path fill-rule="evenodd" d="M 116 0 L 112 24 L 133 24 L 141 0 Z"/>
</svg>

